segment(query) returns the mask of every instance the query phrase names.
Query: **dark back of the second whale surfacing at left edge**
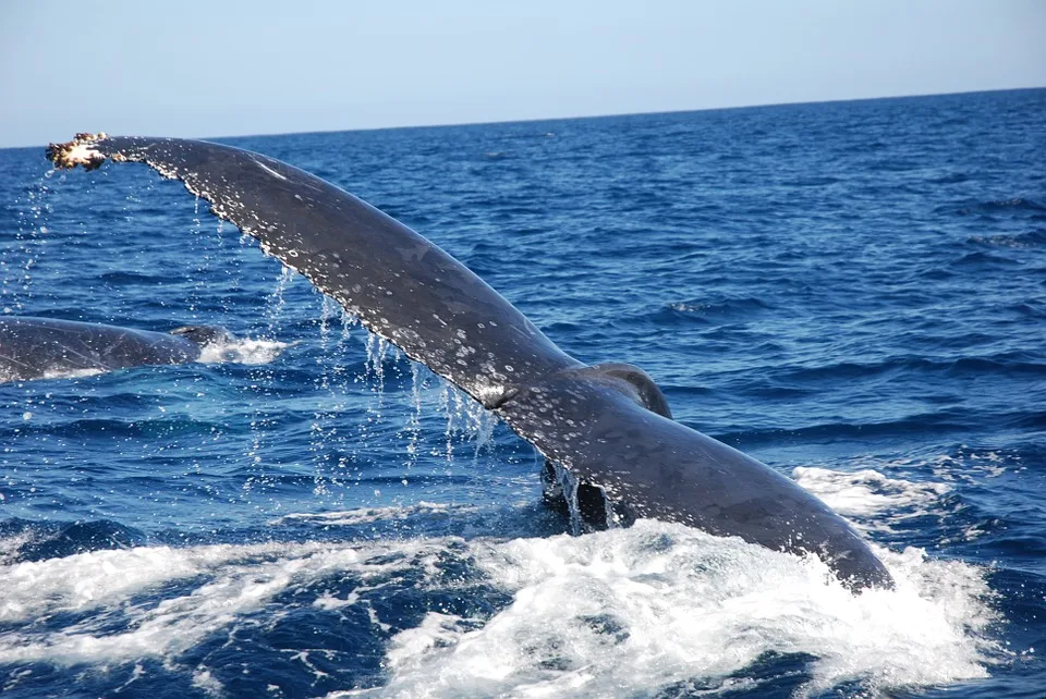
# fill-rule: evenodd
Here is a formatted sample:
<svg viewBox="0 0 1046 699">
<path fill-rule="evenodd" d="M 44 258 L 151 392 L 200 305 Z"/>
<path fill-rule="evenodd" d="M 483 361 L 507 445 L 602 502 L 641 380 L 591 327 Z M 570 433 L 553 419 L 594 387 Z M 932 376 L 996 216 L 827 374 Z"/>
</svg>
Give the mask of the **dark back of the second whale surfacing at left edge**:
<svg viewBox="0 0 1046 699">
<path fill-rule="evenodd" d="M 0 381 L 27 381 L 149 364 L 184 364 L 231 335 L 215 326 L 170 333 L 101 323 L 0 316 Z"/>
</svg>

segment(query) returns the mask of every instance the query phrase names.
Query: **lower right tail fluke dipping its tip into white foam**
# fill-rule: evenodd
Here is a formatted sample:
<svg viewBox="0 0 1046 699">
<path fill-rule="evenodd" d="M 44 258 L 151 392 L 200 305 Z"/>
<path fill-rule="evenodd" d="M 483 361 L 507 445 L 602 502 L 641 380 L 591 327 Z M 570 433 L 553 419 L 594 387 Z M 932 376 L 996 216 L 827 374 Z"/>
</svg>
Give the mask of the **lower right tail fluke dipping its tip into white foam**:
<svg viewBox="0 0 1046 699">
<path fill-rule="evenodd" d="M 798 483 L 584 369 L 521 391 L 497 412 L 546 458 L 637 517 L 817 554 L 852 589 L 893 585 L 850 525 Z"/>
</svg>

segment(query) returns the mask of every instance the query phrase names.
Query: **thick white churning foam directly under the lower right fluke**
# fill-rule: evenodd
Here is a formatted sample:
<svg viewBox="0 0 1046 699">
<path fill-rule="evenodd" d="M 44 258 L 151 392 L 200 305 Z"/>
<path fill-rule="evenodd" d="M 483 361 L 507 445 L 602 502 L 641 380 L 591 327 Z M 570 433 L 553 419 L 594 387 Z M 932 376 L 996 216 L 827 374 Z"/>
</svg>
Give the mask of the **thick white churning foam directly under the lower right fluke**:
<svg viewBox="0 0 1046 699">
<path fill-rule="evenodd" d="M 362 694 L 645 696 L 694 678 L 725 688 L 769 652 L 817 658 L 805 691 L 854 679 L 879 690 L 984 677 L 996 650 L 983 636 L 996 620 L 982 572 L 917 550 L 879 552 L 896 591 L 853 596 L 816 559 L 650 520 L 473 548 L 512 605 L 478 629 L 430 613 L 394 637 L 390 684 Z"/>
</svg>

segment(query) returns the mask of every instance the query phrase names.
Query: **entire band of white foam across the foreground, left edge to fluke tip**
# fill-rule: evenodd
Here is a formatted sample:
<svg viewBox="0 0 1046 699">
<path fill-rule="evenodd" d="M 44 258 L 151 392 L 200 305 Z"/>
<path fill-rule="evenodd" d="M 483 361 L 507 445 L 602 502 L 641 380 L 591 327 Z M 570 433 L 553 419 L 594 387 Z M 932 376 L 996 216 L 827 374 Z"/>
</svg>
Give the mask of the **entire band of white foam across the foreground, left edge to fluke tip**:
<svg viewBox="0 0 1046 699">
<path fill-rule="evenodd" d="M 329 514 L 312 522 L 363 516 Z M 177 664 L 281 592 L 330 576 L 361 584 L 301 603 L 339 614 L 405 568 L 422 574 L 419 589 L 452 588 L 438 565 L 450 550 L 512 603 L 490 618 L 429 613 L 389 643 L 388 685 L 352 694 L 646 696 L 695 678 L 757 686 L 733 675 L 770 652 L 816 658 L 804 691 L 860 680 L 875 692 L 983 677 L 1000 653 L 986 636 L 998 620 L 975 566 L 877 551 L 897 590 L 853 596 L 815 557 L 640 520 L 583 537 L 143 547 L 12 564 L 0 567 L 2 618 L 14 624 L 0 635 L 0 663 Z M 281 608 L 295 604 L 288 600 Z M 374 628 L 388 629 L 367 606 Z M 68 612 L 63 627 L 37 623 Z M 196 672 L 198 687 L 221 691 L 207 669 Z"/>
</svg>

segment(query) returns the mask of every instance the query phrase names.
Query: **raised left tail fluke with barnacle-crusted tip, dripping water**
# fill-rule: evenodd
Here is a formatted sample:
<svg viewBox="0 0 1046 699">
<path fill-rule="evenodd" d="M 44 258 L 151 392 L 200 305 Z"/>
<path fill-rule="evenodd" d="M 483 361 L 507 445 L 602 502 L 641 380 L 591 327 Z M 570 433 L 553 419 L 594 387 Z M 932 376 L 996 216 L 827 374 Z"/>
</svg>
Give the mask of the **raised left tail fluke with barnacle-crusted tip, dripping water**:
<svg viewBox="0 0 1046 699">
<path fill-rule="evenodd" d="M 292 165 L 230 146 L 82 134 L 57 167 L 143 162 L 260 241 L 372 332 L 487 407 L 579 363 L 472 271 L 399 221 Z"/>
</svg>

